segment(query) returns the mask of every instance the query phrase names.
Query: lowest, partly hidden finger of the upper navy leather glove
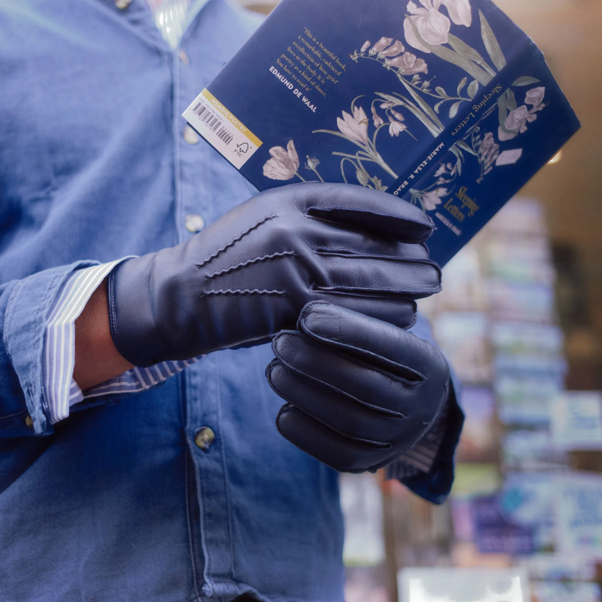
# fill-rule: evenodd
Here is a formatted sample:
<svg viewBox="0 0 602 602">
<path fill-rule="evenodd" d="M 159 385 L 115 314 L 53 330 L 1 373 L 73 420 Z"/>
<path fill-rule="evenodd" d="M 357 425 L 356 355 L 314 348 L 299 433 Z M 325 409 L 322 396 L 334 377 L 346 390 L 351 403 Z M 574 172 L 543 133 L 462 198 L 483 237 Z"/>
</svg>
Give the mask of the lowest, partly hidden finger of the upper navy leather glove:
<svg viewBox="0 0 602 602">
<path fill-rule="evenodd" d="M 335 291 L 312 292 L 316 301 L 336 303 L 377 320 L 385 320 L 399 328 L 409 328 L 416 321 L 416 303 L 412 299 L 401 299 L 391 295 L 353 294 L 350 291 L 344 294 Z"/>
</svg>

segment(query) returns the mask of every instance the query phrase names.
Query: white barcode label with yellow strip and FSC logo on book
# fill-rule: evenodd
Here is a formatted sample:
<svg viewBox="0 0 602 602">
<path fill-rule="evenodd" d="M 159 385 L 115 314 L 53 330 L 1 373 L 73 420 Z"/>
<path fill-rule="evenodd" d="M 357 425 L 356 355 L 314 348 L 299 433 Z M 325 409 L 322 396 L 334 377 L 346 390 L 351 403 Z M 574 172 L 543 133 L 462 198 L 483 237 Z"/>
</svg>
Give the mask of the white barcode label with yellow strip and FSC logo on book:
<svg viewBox="0 0 602 602">
<path fill-rule="evenodd" d="M 184 118 L 237 169 L 261 146 L 261 140 L 206 88 L 184 111 Z"/>
</svg>

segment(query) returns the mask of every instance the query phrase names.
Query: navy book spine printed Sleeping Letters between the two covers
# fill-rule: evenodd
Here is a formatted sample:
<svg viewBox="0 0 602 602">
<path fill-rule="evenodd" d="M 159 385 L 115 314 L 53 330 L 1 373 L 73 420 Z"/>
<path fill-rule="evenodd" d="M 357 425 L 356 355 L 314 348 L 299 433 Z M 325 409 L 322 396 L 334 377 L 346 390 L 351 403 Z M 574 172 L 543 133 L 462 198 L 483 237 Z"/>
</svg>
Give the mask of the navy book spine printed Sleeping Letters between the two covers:
<svg viewBox="0 0 602 602">
<path fill-rule="evenodd" d="M 473 99 L 474 105 L 466 108 L 462 113 L 455 117 L 452 123 L 444 129 L 427 149 L 417 157 L 414 163 L 391 184 L 387 192 L 395 196 L 403 196 L 406 191 L 412 187 L 412 184 L 424 175 L 431 164 L 431 161 L 443 155 L 453 146 L 457 140 L 462 139 L 462 132 L 470 128 L 477 122 L 480 115 L 485 113 L 488 108 L 497 103 L 497 99 L 506 88 L 512 85 L 515 79 L 529 70 L 536 61 L 543 61 L 544 57 L 533 42 L 529 42 L 524 51 L 517 53 L 512 60 L 498 73 L 485 88 L 485 93 L 481 99 Z M 483 102 L 484 101 L 484 102 Z M 483 102 L 483 104 L 481 104 Z M 477 105 L 480 105 L 477 108 Z"/>
</svg>

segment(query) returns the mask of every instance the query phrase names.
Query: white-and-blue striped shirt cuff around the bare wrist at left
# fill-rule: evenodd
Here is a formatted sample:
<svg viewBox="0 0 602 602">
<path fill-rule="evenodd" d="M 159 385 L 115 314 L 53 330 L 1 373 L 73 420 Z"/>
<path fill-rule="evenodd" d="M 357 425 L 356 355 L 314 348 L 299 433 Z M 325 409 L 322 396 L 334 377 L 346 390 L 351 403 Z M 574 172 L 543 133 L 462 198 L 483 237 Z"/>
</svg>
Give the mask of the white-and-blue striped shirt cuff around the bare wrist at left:
<svg viewBox="0 0 602 602">
<path fill-rule="evenodd" d="M 156 386 L 193 364 L 161 362 L 148 368 L 132 368 L 119 376 L 82 391 L 73 380 L 75 366 L 75 320 L 88 299 L 123 259 L 76 270 L 66 279 L 52 304 L 44 339 L 45 397 L 52 424 L 69 416 L 70 406 L 87 399 L 120 393 L 137 393 Z"/>
</svg>

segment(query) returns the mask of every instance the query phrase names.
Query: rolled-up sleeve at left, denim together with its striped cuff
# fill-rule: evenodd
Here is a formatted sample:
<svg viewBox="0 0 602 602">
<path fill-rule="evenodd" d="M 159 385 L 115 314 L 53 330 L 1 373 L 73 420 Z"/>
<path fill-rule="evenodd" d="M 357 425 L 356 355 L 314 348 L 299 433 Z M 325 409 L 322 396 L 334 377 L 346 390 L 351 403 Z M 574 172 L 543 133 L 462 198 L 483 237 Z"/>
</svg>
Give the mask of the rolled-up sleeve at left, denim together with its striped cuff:
<svg viewBox="0 0 602 602">
<path fill-rule="evenodd" d="M 84 409 L 85 400 L 144 391 L 196 361 L 132 368 L 86 391 L 73 380 L 75 320 L 125 259 L 79 261 L 0 286 L 0 437 L 47 435 L 74 405 Z"/>
</svg>

